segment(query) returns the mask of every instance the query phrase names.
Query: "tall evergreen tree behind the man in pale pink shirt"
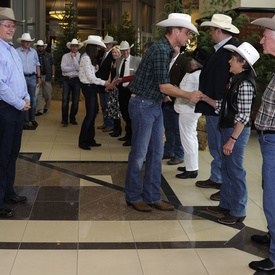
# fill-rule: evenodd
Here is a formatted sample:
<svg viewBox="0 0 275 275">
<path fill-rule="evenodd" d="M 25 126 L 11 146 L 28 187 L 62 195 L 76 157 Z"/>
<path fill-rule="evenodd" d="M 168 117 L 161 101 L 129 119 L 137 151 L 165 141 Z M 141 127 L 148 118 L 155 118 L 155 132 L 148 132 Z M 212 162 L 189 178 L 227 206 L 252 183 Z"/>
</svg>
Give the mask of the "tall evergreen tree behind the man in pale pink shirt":
<svg viewBox="0 0 275 275">
<path fill-rule="evenodd" d="M 67 48 L 66 44 L 67 42 L 72 41 L 73 38 L 78 37 L 77 11 L 73 1 L 66 4 L 65 14 L 60 23 L 61 25 L 56 40 L 56 47 L 53 51 L 53 57 L 55 61 L 55 79 L 57 83 L 61 83 L 62 81 L 62 56 L 65 53 L 69 52 L 69 49 Z"/>
</svg>

